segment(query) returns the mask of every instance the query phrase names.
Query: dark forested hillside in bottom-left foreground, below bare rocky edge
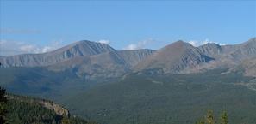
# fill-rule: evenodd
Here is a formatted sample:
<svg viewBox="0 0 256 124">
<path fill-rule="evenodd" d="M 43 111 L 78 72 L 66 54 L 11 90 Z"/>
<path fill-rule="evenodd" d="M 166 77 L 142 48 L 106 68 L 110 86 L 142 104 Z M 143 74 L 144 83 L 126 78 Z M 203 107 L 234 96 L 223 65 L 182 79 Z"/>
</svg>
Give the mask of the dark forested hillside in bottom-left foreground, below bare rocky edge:
<svg viewBox="0 0 256 124">
<path fill-rule="evenodd" d="M 94 124 L 96 122 L 86 121 L 78 116 L 69 115 L 64 112 L 59 115 L 56 109 L 48 109 L 43 103 L 53 103 L 41 98 L 24 97 L 7 93 L 7 113 L 4 119 L 11 124 Z"/>
</svg>

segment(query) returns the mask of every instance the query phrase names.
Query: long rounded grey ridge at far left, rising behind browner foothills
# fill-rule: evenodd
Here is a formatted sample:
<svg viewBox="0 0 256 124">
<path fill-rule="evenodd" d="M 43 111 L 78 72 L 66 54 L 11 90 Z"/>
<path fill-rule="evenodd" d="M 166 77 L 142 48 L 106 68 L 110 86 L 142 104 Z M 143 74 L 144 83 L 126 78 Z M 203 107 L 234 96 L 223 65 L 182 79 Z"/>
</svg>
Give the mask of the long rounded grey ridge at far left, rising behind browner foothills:
<svg viewBox="0 0 256 124">
<path fill-rule="evenodd" d="M 16 56 L 1 56 L 3 67 L 36 67 L 60 62 L 76 56 L 92 56 L 114 51 L 108 44 L 101 44 L 87 40 L 66 45 L 58 50 L 42 54 L 22 54 Z"/>
</svg>

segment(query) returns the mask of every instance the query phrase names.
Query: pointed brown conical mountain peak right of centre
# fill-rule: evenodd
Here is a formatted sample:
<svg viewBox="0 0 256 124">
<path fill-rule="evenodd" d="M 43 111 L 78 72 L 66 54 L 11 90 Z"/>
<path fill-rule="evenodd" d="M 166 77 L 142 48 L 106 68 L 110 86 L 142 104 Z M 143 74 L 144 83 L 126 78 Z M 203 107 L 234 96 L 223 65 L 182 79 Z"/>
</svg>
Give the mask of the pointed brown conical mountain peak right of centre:
<svg viewBox="0 0 256 124">
<path fill-rule="evenodd" d="M 184 73 L 185 68 L 193 68 L 195 65 L 207 62 L 207 59 L 198 48 L 178 40 L 148 56 L 134 68 L 134 71 L 159 69 L 161 73 L 180 74 Z"/>
</svg>

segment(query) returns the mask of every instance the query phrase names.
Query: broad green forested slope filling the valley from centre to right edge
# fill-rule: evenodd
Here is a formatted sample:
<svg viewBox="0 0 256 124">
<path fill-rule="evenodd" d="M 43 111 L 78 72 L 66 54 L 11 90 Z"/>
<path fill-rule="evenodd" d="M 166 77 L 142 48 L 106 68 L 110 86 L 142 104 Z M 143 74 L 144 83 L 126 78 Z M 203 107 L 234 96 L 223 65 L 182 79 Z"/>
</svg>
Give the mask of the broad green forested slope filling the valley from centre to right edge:
<svg viewBox="0 0 256 124">
<path fill-rule="evenodd" d="M 228 113 L 229 123 L 256 121 L 256 92 L 241 74 L 131 75 L 72 97 L 68 109 L 101 123 L 194 123 L 209 109 Z M 71 102 L 72 101 L 72 102 Z"/>
</svg>

